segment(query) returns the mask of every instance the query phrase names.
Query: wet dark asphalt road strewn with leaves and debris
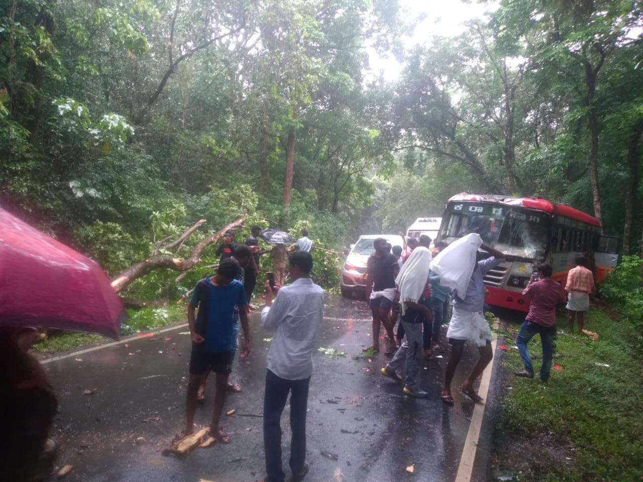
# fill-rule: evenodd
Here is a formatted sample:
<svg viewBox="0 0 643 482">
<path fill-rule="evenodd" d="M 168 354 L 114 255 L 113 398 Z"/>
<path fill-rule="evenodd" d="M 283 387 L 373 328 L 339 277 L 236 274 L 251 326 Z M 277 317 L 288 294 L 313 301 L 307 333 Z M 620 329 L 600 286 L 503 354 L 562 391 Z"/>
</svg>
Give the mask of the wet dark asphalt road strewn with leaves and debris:
<svg viewBox="0 0 643 482">
<path fill-rule="evenodd" d="M 347 355 L 314 356 L 307 418 L 311 471 L 306 480 L 333 481 L 339 469 L 349 482 L 453 481 L 473 413 L 473 402 L 457 387 L 477 357 L 475 347 L 467 346 L 453 385 L 455 407 L 448 407 L 439 398 L 448 353 L 424 362 L 422 388 L 430 398 L 406 398 L 401 384 L 379 373 L 383 351 L 370 362 L 361 357 L 371 333 L 366 303 L 329 296 L 325 317 L 318 346 Z M 269 348 L 264 338 L 270 335 L 261 328 L 258 314 L 250 321 L 252 352 L 235 359 L 231 375 L 243 391 L 226 400 L 225 410 L 237 413 L 222 420 L 224 429 L 233 433 L 231 443 L 195 449 L 183 459 L 162 456 L 161 450 L 185 425 L 190 337 L 182 333 L 187 328 L 47 364 L 60 402 L 54 427 L 60 447 L 57 466 L 73 465 L 66 480 L 240 482 L 264 477 L 260 415 Z M 95 393 L 83 395 L 86 389 Z M 197 424 L 210 421 L 213 389 L 210 383 Z M 288 413 L 286 405 L 282 429 L 287 476 Z M 146 418 L 160 420 L 143 422 Z M 334 452 L 339 460 L 329 460 L 320 451 Z M 405 469 L 412 463 L 415 472 L 408 474 Z"/>
</svg>

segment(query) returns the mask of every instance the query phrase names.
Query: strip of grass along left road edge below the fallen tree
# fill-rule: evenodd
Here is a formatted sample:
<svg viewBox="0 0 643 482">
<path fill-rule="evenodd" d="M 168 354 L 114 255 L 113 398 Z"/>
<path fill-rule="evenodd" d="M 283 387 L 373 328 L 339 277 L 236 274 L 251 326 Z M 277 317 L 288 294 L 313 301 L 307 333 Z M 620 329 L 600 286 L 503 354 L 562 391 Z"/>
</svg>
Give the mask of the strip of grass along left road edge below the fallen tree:
<svg viewBox="0 0 643 482">
<path fill-rule="evenodd" d="M 121 336 L 129 336 L 163 326 L 186 321 L 185 306 L 168 305 L 163 308 L 142 308 L 141 310 L 127 310 L 129 315 L 121 325 Z M 47 354 L 67 352 L 89 344 L 100 344 L 111 341 L 102 335 L 82 332 L 64 331 L 60 334 L 46 337 L 33 345 L 35 353 Z"/>
</svg>

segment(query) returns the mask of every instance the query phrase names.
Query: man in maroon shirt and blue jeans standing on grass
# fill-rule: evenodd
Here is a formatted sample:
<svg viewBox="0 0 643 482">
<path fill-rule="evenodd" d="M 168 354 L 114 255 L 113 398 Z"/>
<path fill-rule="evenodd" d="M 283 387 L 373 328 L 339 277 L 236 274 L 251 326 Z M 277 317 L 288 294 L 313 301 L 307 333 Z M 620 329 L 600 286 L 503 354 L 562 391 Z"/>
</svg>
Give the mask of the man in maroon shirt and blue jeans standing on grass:
<svg viewBox="0 0 643 482">
<path fill-rule="evenodd" d="M 523 291 L 523 297 L 531 301 L 529 313 L 520 327 L 516 345 L 525 365 L 525 370 L 516 372 L 518 377 L 534 378 L 534 367 L 527 350 L 527 343 L 536 333 L 540 334 L 543 346 L 543 365 L 540 368 L 540 379 L 547 382 L 552 369 L 554 354 L 554 337 L 556 336 L 556 305 L 563 301 L 561 285 L 552 280 L 552 265 L 538 266 L 538 280 L 534 276 Z"/>
</svg>

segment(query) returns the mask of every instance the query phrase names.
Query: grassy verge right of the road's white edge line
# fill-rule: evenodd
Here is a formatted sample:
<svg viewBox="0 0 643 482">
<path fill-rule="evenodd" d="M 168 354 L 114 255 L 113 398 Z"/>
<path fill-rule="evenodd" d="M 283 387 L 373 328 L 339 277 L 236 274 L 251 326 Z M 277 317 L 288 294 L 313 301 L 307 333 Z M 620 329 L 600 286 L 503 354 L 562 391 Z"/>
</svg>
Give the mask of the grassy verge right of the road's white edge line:
<svg viewBox="0 0 643 482">
<path fill-rule="evenodd" d="M 515 339 L 519 326 L 511 328 Z M 599 339 L 560 334 L 562 330 L 566 333 L 568 321 L 559 316 L 552 365 L 561 370 L 552 370 L 548 384 L 538 380 L 538 335 L 529 344 L 534 379 L 512 374 L 522 369 L 522 362 L 518 350 L 509 348 L 503 366 L 509 372 L 511 389 L 506 391 L 497 431 L 506 443 L 499 444 L 496 465 L 511 470 L 512 480 L 643 480 L 643 364 L 628 343 L 633 329 L 594 308 L 586 314 L 584 328 L 597 332 Z M 511 337 L 505 344 L 514 344 Z M 516 443 L 512 444 L 512 438 Z M 523 445 L 519 441 L 525 440 L 527 450 L 516 454 Z M 549 447 L 539 447 L 539 443 Z M 547 452 L 553 456 L 543 463 L 541 456 Z"/>
</svg>

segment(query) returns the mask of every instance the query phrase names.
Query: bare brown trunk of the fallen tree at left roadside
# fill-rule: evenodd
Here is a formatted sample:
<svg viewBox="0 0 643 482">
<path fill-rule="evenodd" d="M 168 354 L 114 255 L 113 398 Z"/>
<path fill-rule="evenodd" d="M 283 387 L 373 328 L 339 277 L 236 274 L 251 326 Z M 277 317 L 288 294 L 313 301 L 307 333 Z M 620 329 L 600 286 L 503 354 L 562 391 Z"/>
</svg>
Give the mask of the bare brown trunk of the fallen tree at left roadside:
<svg viewBox="0 0 643 482">
<path fill-rule="evenodd" d="M 127 288 L 132 281 L 145 276 L 145 274 L 155 269 L 165 268 L 172 269 L 174 271 L 186 271 L 194 267 L 199 261 L 201 261 L 201 254 L 210 244 L 213 244 L 220 240 L 223 235 L 228 231 L 228 229 L 238 228 L 246 220 L 246 217 L 241 217 L 234 222 L 228 224 L 222 229 L 219 229 L 216 233 L 203 238 L 197 243 L 197 245 L 192 249 L 192 253 L 185 260 L 179 258 L 174 258 L 174 256 L 164 255 L 155 255 L 147 260 L 143 260 L 138 263 L 134 263 L 129 268 L 117 274 L 112 279 L 112 288 L 117 293 Z"/>
</svg>

